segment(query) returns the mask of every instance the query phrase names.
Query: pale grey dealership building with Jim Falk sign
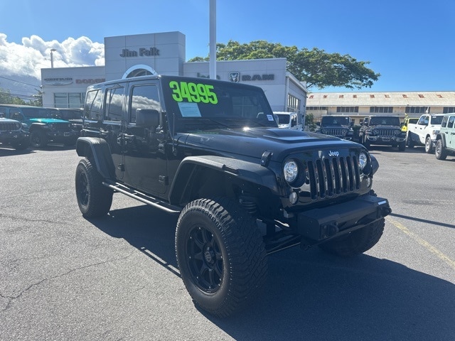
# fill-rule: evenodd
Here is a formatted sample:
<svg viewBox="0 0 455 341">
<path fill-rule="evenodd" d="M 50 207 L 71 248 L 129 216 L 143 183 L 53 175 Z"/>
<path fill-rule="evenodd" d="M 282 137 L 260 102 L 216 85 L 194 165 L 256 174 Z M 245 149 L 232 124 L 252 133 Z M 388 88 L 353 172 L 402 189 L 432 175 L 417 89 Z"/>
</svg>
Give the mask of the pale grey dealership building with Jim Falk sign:
<svg viewBox="0 0 455 341">
<path fill-rule="evenodd" d="M 41 69 L 43 107 L 80 108 L 88 85 L 142 75 L 209 77 L 209 63 L 186 63 L 181 32 L 105 38 L 105 66 Z M 216 63 L 218 80 L 261 87 L 274 112 L 305 113 L 307 90 L 287 72 L 286 58 Z"/>
</svg>

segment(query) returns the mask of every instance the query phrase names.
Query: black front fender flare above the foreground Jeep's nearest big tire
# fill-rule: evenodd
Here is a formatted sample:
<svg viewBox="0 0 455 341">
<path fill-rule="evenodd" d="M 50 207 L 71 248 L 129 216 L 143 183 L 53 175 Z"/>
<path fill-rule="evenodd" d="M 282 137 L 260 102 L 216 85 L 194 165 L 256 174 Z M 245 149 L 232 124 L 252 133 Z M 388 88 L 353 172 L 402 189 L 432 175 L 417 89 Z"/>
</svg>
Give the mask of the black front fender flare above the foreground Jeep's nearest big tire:
<svg viewBox="0 0 455 341">
<path fill-rule="evenodd" d="M 169 191 L 169 201 L 178 202 L 186 188 L 188 178 L 198 168 L 210 168 L 220 173 L 231 175 L 239 180 L 269 188 L 272 193 L 282 195 L 275 173 L 258 163 L 226 158 L 223 156 L 188 156 L 177 168 Z"/>
</svg>

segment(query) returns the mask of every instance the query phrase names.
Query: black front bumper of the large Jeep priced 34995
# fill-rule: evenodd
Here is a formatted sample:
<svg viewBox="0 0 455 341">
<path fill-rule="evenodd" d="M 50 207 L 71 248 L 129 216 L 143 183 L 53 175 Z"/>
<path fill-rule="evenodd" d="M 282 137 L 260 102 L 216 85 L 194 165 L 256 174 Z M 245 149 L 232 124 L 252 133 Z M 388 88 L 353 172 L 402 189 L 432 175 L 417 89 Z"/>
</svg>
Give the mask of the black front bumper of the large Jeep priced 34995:
<svg viewBox="0 0 455 341">
<path fill-rule="evenodd" d="M 387 199 L 363 195 L 338 205 L 299 213 L 297 232 L 306 239 L 321 242 L 360 229 L 390 212 Z"/>
</svg>

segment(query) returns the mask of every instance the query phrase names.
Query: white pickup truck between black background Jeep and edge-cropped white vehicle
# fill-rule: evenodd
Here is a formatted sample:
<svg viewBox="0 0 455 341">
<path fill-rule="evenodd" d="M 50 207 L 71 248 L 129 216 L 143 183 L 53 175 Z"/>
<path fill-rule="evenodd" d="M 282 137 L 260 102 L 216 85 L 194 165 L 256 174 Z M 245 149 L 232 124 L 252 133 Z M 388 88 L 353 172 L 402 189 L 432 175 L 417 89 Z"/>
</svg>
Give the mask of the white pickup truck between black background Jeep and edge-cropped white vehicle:
<svg viewBox="0 0 455 341">
<path fill-rule="evenodd" d="M 436 136 L 441 129 L 444 114 L 424 114 L 417 123 L 407 125 L 407 146 L 425 146 L 426 153 L 433 153 L 436 144 Z"/>
</svg>

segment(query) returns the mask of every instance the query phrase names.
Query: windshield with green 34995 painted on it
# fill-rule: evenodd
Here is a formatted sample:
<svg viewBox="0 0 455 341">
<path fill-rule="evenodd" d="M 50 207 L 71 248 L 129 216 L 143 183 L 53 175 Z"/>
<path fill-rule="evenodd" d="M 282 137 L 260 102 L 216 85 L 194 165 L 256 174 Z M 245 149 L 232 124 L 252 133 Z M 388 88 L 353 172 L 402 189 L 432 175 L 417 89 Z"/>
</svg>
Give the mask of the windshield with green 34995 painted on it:
<svg viewBox="0 0 455 341">
<path fill-rule="evenodd" d="M 163 77 L 166 112 L 176 131 L 277 127 L 260 88 L 205 78 Z M 289 119 L 288 119 L 289 121 Z"/>
</svg>

